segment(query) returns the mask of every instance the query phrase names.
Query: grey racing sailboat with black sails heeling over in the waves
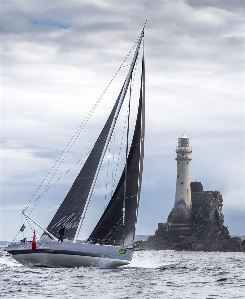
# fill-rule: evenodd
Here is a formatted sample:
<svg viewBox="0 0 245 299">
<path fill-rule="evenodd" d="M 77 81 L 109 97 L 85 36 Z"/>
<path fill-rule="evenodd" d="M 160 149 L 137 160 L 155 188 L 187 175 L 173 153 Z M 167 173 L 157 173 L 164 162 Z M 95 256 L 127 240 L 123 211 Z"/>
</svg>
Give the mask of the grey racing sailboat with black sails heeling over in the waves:
<svg viewBox="0 0 245 299">
<path fill-rule="evenodd" d="M 131 262 L 134 251 L 144 250 L 138 247 L 134 241 L 141 195 L 145 142 L 144 28 L 135 43 L 133 60 L 115 105 L 89 157 L 55 213 L 55 216 L 45 229 L 24 211 L 22 212 L 27 220 L 32 221 L 34 225 L 41 228 L 44 232 L 38 242 L 36 242 L 34 231 L 32 243 L 16 242 L 7 247 L 6 251 L 21 264 L 49 267 L 97 266 L 101 264 L 122 266 Z M 141 44 L 143 45 L 143 49 L 138 113 L 129 152 L 128 113 L 125 167 L 109 204 L 89 238 L 85 243 L 77 242 L 92 192 L 129 86 L 131 95 L 132 75 Z M 64 242 L 57 242 L 58 231 L 61 225 L 65 226 Z"/>
</svg>

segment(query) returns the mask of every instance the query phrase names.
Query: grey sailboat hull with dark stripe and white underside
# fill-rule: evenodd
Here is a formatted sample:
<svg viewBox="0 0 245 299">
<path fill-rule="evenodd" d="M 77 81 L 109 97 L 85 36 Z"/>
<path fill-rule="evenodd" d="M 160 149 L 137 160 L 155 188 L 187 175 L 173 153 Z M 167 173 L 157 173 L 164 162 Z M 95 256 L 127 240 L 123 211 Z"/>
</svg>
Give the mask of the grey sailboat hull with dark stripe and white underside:
<svg viewBox="0 0 245 299">
<path fill-rule="evenodd" d="M 130 264 L 134 253 L 132 248 L 126 248 L 126 253 L 120 254 L 123 247 L 86 243 L 42 242 L 36 243 L 36 247 L 40 252 L 32 250 L 32 243 L 12 244 L 7 247 L 7 252 L 24 266 L 48 267 L 123 266 Z"/>
</svg>

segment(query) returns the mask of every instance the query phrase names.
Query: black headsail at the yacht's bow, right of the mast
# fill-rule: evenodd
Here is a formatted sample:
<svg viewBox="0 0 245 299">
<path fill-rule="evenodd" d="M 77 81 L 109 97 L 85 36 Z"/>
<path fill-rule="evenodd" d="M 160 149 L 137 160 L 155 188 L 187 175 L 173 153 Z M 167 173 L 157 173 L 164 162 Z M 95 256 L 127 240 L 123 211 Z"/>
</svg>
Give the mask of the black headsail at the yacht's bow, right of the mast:
<svg viewBox="0 0 245 299">
<path fill-rule="evenodd" d="M 145 58 L 143 48 L 141 91 L 138 106 L 138 115 L 134 129 L 134 136 L 127 158 L 127 180 L 126 180 L 126 214 L 124 245 L 132 244 L 134 240 L 138 206 L 141 192 L 141 180 L 144 158 L 145 141 Z M 87 242 L 98 244 L 123 245 L 122 208 L 124 193 L 124 174 L 115 189 L 115 192 L 107 205 L 102 217 L 97 223 Z M 99 239 L 99 240 L 97 240 Z M 109 240 L 109 241 L 108 241 Z"/>
</svg>

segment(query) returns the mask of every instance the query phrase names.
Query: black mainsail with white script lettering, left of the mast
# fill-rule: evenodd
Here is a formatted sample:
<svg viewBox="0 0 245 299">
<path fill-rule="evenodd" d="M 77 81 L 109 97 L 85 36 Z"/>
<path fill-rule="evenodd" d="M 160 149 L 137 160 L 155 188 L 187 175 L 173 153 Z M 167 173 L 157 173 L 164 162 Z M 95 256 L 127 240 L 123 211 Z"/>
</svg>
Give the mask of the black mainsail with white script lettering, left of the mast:
<svg viewBox="0 0 245 299">
<path fill-rule="evenodd" d="M 47 231 L 49 231 L 53 235 L 58 234 L 61 225 L 66 226 L 64 232 L 64 239 L 73 239 L 76 235 L 77 227 L 80 221 L 80 216 L 84 211 L 85 204 L 87 202 L 88 195 L 91 190 L 92 183 L 95 178 L 95 174 L 98 169 L 98 165 L 100 163 L 100 159 L 107 142 L 107 136 L 109 134 L 109 131 L 111 131 L 111 126 L 114 122 L 115 113 L 119 107 L 119 103 L 119 110 L 121 109 L 123 99 L 126 95 L 126 90 L 129 86 L 129 79 L 132 76 L 136 59 L 138 57 L 138 49 L 141 43 L 141 38 L 139 39 L 137 50 L 134 54 L 134 59 L 130 66 L 129 74 L 123 84 L 120 94 L 111 111 L 111 114 L 108 117 L 107 122 L 104 125 L 104 128 L 101 131 L 100 136 L 97 139 L 91 153 L 89 154 L 88 159 L 86 160 L 72 187 L 70 188 L 70 191 L 66 195 L 66 198 L 63 200 L 62 204 L 58 208 L 58 211 L 56 212 L 55 216 L 53 217 L 53 219 L 47 227 Z M 120 101 L 121 96 L 123 96 L 123 98 Z"/>
</svg>

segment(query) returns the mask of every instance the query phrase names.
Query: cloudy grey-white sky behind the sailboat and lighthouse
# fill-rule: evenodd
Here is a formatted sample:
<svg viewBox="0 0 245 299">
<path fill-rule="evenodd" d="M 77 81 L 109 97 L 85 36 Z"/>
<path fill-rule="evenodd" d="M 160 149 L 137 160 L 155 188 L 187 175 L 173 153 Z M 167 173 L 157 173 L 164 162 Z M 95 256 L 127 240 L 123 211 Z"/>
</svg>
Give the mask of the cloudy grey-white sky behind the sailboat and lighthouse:
<svg viewBox="0 0 245 299">
<path fill-rule="evenodd" d="M 2 0 L 1 240 L 17 234 L 21 211 L 120 67 L 146 18 L 145 160 L 136 234 L 154 234 L 157 223 L 167 221 L 175 197 L 175 146 L 186 130 L 193 146 L 191 181 L 220 191 L 225 225 L 231 234 L 244 235 L 243 0 Z M 126 73 L 127 67 L 121 68 L 54 179 L 92 148 Z M 82 237 L 89 236 L 109 200 L 127 100 L 115 134 L 114 165 L 112 152 L 107 156 L 107 197 L 105 167 Z M 120 156 L 117 177 L 123 161 Z M 32 216 L 43 226 L 84 162 L 38 202 Z"/>
</svg>

